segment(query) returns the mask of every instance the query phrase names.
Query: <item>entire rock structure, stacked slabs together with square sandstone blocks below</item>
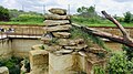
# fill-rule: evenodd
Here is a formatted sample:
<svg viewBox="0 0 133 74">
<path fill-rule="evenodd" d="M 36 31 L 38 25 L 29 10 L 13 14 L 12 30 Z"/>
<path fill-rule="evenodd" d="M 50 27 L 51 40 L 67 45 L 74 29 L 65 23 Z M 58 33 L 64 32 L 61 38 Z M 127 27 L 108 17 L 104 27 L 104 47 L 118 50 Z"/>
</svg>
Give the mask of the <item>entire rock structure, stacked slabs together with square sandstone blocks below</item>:
<svg viewBox="0 0 133 74">
<path fill-rule="evenodd" d="M 73 27 L 66 10 L 49 11 L 52 14 L 45 15 L 43 44 L 30 51 L 31 74 L 93 74 L 94 65 L 105 65 L 105 59 L 96 55 L 106 54 L 103 49 L 90 47 L 82 38 L 71 39 Z"/>
</svg>

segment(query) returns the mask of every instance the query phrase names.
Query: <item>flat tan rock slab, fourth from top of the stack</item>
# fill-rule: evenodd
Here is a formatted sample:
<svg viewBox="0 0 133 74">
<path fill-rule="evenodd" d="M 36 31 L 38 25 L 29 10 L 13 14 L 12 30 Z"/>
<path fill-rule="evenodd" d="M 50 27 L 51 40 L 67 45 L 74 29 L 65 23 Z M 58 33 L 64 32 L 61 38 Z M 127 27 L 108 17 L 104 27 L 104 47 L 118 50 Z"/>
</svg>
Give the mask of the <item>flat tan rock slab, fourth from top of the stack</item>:
<svg viewBox="0 0 133 74">
<path fill-rule="evenodd" d="M 47 32 L 69 31 L 72 28 L 70 24 L 57 25 L 57 27 L 44 27 L 43 30 Z"/>
</svg>

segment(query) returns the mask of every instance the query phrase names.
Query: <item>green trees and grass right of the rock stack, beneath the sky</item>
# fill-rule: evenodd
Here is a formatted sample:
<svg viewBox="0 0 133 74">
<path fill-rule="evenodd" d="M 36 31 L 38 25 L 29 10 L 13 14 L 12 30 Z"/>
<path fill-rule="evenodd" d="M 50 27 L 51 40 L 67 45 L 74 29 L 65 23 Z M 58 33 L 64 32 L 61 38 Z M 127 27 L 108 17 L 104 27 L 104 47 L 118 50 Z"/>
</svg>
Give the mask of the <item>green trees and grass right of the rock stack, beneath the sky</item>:
<svg viewBox="0 0 133 74">
<path fill-rule="evenodd" d="M 114 27 L 112 22 L 98 14 L 95 7 L 81 7 L 76 11 L 78 14 L 72 15 L 72 22 L 74 23 L 89 27 Z M 133 27 L 133 14 L 127 11 L 123 13 L 123 15 L 124 17 L 117 17 L 115 14 L 114 18 L 124 27 Z"/>
</svg>

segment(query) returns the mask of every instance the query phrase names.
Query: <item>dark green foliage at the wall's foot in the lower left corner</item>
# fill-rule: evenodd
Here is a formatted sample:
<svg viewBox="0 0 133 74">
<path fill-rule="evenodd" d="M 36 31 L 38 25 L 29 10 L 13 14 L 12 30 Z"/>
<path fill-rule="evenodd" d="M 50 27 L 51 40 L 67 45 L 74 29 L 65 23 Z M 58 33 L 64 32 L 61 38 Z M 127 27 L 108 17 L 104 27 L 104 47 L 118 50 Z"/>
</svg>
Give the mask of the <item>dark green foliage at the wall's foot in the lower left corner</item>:
<svg viewBox="0 0 133 74">
<path fill-rule="evenodd" d="M 10 74 L 20 74 L 20 61 L 19 57 L 11 57 L 9 60 L 0 60 L 0 66 L 7 66 Z"/>
</svg>

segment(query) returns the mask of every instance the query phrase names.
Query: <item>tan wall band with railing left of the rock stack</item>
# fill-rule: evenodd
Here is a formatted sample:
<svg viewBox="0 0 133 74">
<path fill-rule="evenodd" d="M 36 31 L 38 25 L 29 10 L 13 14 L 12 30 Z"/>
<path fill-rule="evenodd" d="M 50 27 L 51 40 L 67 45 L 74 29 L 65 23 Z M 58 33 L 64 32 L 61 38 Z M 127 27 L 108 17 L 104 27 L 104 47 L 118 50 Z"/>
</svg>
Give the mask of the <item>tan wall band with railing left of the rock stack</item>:
<svg viewBox="0 0 133 74">
<path fill-rule="evenodd" d="M 39 38 L 44 31 L 39 25 L 0 25 L 0 39 Z"/>
</svg>

